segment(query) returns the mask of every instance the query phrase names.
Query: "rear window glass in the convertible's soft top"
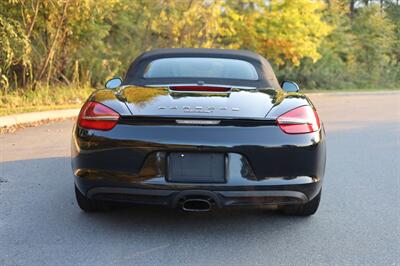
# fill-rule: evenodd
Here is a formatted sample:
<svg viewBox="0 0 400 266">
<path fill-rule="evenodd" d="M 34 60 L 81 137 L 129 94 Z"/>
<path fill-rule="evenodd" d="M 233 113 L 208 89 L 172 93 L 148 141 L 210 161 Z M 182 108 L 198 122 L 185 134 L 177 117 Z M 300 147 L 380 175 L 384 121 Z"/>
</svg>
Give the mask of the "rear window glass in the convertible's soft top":
<svg viewBox="0 0 400 266">
<path fill-rule="evenodd" d="M 225 78 L 258 80 L 255 67 L 244 60 L 204 57 L 171 57 L 150 62 L 144 78 Z"/>
</svg>

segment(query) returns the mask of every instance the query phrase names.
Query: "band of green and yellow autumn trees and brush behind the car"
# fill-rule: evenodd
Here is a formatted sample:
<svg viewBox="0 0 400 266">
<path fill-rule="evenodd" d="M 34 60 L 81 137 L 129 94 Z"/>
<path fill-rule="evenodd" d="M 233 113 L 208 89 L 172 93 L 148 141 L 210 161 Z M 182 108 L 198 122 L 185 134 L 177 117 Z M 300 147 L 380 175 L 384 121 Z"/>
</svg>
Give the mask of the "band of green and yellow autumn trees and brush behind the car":
<svg viewBox="0 0 400 266">
<path fill-rule="evenodd" d="M 399 6 L 347 0 L 3 0 L 2 93 L 98 86 L 143 51 L 248 49 L 308 88 L 395 87 Z"/>
</svg>

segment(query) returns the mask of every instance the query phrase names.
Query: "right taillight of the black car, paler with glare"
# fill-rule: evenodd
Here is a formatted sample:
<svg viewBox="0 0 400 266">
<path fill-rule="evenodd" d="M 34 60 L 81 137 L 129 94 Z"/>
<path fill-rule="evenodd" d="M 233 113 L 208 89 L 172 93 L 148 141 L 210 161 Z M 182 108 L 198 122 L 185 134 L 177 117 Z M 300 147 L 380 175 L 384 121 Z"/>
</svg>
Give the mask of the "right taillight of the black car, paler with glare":
<svg viewBox="0 0 400 266">
<path fill-rule="evenodd" d="M 317 112 L 310 106 L 297 107 L 277 119 L 279 127 L 288 134 L 311 133 L 320 129 Z"/>
</svg>

